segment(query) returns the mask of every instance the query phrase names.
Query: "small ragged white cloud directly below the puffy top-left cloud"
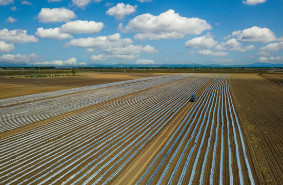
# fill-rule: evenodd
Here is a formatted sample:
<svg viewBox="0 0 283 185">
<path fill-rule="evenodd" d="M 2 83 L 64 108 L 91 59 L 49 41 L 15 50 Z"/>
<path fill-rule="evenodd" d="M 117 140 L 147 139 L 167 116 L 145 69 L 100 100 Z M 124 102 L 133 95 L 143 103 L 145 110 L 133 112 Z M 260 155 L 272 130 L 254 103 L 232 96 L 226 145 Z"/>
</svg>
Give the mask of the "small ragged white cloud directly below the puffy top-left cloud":
<svg viewBox="0 0 283 185">
<path fill-rule="evenodd" d="M 65 40 L 65 39 L 72 39 L 73 36 L 68 33 L 61 33 L 60 28 L 49 28 L 49 29 L 43 29 L 37 28 L 37 31 L 35 35 L 39 38 L 43 39 L 53 39 L 53 40 Z"/>
</svg>

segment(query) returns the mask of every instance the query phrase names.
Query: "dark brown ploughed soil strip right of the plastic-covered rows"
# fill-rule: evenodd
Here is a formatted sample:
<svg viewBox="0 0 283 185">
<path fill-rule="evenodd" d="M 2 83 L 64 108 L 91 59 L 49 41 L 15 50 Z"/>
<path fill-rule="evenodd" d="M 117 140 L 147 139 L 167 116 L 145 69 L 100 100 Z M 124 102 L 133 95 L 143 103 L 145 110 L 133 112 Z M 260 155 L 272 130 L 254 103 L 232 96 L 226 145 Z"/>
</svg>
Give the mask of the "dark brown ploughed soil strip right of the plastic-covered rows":
<svg viewBox="0 0 283 185">
<path fill-rule="evenodd" d="M 256 184 L 283 184 L 283 87 L 233 74 L 230 89 Z"/>
</svg>

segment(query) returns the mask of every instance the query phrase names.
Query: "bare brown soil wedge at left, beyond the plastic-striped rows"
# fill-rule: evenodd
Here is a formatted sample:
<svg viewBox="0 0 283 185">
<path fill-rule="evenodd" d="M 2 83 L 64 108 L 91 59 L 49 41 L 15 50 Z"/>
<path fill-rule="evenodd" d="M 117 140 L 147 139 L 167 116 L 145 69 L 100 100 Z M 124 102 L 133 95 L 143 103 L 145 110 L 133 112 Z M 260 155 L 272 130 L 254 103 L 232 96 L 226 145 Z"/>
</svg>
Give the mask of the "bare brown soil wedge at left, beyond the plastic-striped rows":
<svg viewBox="0 0 283 185">
<path fill-rule="evenodd" d="M 168 74 L 87 72 L 84 74 L 77 73 L 76 76 L 45 77 L 35 79 L 0 77 L 0 99 L 162 75 Z"/>
</svg>

